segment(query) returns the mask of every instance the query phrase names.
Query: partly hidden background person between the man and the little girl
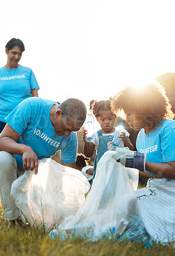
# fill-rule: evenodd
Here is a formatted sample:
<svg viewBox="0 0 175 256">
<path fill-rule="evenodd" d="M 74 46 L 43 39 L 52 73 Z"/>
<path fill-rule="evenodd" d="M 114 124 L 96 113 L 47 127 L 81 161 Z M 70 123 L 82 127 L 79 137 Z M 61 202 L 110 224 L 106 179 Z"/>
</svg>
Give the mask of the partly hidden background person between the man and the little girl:
<svg viewBox="0 0 175 256">
<path fill-rule="evenodd" d="M 82 153 L 77 154 L 77 160 L 75 162 L 75 169 L 82 172 L 82 174 L 88 179 L 89 184 L 93 182 L 93 166 L 88 165 L 89 157 L 86 157 Z"/>
</svg>

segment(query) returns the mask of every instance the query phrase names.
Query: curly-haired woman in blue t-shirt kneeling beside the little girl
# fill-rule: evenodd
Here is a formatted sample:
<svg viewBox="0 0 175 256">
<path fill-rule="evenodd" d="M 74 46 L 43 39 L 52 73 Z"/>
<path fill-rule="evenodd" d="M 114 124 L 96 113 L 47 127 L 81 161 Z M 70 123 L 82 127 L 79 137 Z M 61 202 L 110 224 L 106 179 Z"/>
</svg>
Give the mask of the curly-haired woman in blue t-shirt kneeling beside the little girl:
<svg viewBox="0 0 175 256">
<path fill-rule="evenodd" d="M 125 166 L 151 178 L 135 191 L 146 230 L 157 241 L 175 241 L 175 121 L 165 90 L 160 84 L 128 86 L 111 99 L 111 107 L 116 115 L 124 111 L 130 127 L 141 130 L 138 152 Z"/>
</svg>

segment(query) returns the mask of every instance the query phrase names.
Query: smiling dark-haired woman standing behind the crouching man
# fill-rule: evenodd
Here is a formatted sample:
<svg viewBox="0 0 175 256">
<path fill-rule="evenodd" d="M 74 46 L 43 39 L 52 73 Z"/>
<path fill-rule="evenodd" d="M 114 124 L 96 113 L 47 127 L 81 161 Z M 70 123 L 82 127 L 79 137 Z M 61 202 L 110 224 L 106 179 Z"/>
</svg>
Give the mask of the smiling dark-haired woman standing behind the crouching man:
<svg viewBox="0 0 175 256">
<path fill-rule="evenodd" d="M 4 119 L 29 97 L 38 97 L 38 83 L 31 68 L 19 65 L 25 51 L 20 39 L 12 38 L 5 46 L 7 63 L 0 69 L 0 132 L 6 125 Z"/>
</svg>

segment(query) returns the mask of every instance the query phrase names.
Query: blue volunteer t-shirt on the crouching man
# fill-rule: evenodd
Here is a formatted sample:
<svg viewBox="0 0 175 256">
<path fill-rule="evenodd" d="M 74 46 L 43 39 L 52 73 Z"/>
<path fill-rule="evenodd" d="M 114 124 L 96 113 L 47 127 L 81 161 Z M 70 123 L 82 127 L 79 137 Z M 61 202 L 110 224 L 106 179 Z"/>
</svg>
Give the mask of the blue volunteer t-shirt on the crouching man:
<svg viewBox="0 0 175 256">
<path fill-rule="evenodd" d="M 21 136 L 19 143 L 33 149 L 38 159 L 48 158 L 61 150 L 64 163 L 74 163 L 77 155 L 77 134 L 58 136 L 50 122 L 50 108 L 56 102 L 31 97 L 23 100 L 10 115 L 6 122 Z M 15 155 L 17 165 L 23 169 L 22 156 Z"/>
</svg>

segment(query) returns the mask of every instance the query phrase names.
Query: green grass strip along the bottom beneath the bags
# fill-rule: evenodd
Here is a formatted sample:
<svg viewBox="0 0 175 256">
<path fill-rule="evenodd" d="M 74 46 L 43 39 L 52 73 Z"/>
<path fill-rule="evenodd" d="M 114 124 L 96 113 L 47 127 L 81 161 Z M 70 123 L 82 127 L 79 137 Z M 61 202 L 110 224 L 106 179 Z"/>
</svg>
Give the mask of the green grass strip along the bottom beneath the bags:
<svg viewBox="0 0 175 256">
<path fill-rule="evenodd" d="M 3 211 L 2 207 L 0 212 Z M 0 215 L 0 255 L 1 256 L 143 256 L 175 255 L 172 246 L 154 245 L 144 248 L 142 243 L 117 243 L 114 241 L 61 242 L 59 239 L 47 239 L 47 234 L 27 226 L 20 230 L 7 231 L 8 222 Z"/>
</svg>

